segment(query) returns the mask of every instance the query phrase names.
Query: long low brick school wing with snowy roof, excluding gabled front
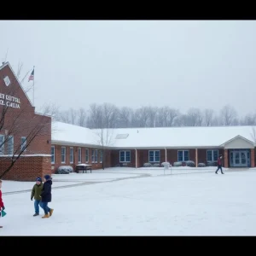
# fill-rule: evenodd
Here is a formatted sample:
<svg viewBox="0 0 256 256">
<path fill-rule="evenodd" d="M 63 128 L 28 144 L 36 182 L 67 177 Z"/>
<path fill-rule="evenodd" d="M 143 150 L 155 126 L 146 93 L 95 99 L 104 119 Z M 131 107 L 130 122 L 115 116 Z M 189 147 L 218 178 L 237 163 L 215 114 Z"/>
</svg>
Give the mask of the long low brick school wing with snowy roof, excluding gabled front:
<svg viewBox="0 0 256 256">
<path fill-rule="evenodd" d="M 216 164 L 222 154 L 224 167 L 254 167 L 256 127 L 166 127 L 90 130 L 56 122 L 52 124 L 51 169 L 90 164 L 102 168 L 102 145 L 107 148 L 105 167 L 142 167 L 168 161 Z M 102 143 L 103 142 L 103 143 Z M 201 165 L 200 165 L 201 166 Z"/>
</svg>

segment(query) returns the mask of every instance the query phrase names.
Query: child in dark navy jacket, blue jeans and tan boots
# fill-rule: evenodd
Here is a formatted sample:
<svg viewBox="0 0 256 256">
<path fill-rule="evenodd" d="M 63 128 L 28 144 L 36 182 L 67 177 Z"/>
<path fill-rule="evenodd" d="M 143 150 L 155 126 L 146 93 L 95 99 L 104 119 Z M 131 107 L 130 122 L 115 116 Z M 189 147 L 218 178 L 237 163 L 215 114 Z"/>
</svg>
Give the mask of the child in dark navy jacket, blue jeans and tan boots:
<svg viewBox="0 0 256 256">
<path fill-rule="evenodd" d="M 52 215 L 53 209 L 48 207 L 48 203 L 51 201 L 51 177 L 47 174 L 44 176 L 44 187 L 41 193 L 40 207 L 44 209 L 44 216 L 42 218 L 49 218 Z"/>
</svg>

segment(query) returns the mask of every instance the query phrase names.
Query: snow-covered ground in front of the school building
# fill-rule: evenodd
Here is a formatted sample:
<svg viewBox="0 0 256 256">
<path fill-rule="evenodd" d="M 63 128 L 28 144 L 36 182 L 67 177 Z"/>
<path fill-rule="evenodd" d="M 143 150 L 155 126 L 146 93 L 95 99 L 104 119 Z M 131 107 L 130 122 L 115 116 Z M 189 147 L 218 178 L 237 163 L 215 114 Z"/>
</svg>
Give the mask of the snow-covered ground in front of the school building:
<svg viewBox="0 0 256 256">
<path fill-rule="evenodd" d="M 0 236 L 256 235 L 255 169 L 225 170 L 224 175 L 216 175 L 215 168 L 193 168 L 194 173 L 185 169 L 184 175 L 172 170 L 165 176 L 163 169 L 156 174 L 148 168 L 54 175 L 55 186 L 70 183 L 58 181 L 65 178 L 80 183 L 93 176 L 101 183 L 53 189 L 49 207 L 55 211 L 46 219 L 32 217 L 30 192 L 4 195 L 12 191 L 12 183 L 13 191 L 26 189 L 26 183 L 22 188 L 21 183 L 3 181 L 7 215 L 0 218 Z"/>
</svg>

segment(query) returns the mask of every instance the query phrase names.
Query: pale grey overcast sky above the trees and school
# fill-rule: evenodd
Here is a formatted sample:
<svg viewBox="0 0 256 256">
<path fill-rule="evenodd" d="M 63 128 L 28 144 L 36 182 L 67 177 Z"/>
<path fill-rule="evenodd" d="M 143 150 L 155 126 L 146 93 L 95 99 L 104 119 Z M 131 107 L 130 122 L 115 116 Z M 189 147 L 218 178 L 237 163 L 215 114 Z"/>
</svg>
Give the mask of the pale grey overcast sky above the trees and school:
<svg viewBox="0 0 256 256">
<path fill-rule="evenodd" d="M 256 21 L 1 20 L 0 31 L 1 61 L 9 50 L 21 77 L 35 66 L 36 107 L 256 110 Z"/>
</svg>

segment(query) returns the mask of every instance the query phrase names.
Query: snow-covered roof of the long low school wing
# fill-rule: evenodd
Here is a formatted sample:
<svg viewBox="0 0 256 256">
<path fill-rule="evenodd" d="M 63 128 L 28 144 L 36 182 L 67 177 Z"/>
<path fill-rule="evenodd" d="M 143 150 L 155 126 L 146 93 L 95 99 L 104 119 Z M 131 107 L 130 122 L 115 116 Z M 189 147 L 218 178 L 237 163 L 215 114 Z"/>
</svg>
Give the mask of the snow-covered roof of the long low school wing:
<svg viewBox="0 0 256 256">
<path fill-rule="evenodd" d="M 105 130 L 103 138 L 104 145 L 110 148 L 214 148 L 224 147 L 237 136 L 254 143 L 253 127 L 256 131 L 256 126 L 120 128 Z M 52 143 L 96 147 L 102 145 L 100 133 L 97 129 L 55 122 Z"/>
</svg>

